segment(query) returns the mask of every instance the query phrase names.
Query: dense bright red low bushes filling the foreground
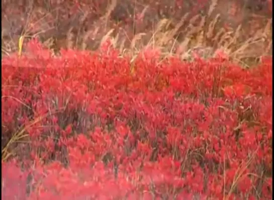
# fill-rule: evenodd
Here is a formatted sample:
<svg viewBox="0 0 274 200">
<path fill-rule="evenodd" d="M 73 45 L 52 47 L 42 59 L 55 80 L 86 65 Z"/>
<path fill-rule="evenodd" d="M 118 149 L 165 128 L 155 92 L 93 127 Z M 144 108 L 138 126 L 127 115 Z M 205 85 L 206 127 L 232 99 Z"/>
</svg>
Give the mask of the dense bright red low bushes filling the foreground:
<svg viewBox="0 0 274 200">
<path fill-rule="evenodd" d="M 271 58 L 28 48 L 2 60 L 3 199 L 271 198 Z"/>
</svg>

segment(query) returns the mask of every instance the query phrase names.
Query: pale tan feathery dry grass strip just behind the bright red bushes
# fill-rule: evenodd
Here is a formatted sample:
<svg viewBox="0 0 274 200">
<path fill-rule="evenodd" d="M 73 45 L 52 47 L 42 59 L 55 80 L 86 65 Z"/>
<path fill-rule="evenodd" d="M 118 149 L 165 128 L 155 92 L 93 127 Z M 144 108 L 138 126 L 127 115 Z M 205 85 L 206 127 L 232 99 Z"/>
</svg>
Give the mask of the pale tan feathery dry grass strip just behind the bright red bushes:
<svg viewBox="0 0 274 200">
<path fill-rule="evenodd" d="M 39 37 L 44 46 L 53 49 L 55 53 L 61 48 L 94 51 L 107 39 L 110 39 L 120 50 L 121 55 L 125 51 L 136 54 L 145 47 L 152 47 L 160 49 L 163 55 L 176 54 L 181 59 L 189 60 L 192 58 L 192 52 L 208 58 L 217 50 L 223 50 L 231 60 L 245 67 L 257 64 L 261 56 L 272 54 L 272 20 L 270 18 L 252 14 L 251 17 L 249 16 L 249 19 L 252 19 L 249 24 L 242 21 L 234 28 L 226 27 L 227 22 L 223 20 L 224 17 L 219 8 L 219 4 L 222 3 L 218 3 L 217 0 L 211 1 L 204 14 L 193 15 L 183 12 L 179 19 L 158 18 L 152 23 L 149 21 L 149 16 L 146 16 L 148 12 L 152 12 L 151 7 L 143 5 L 143 8 L 137 12 L 136 1 L 131 2 L 131 6 L 134 7 L 131 14 L 132 22 L 117 22 L 113 19 L 113 13 L 121 7 L 120 4 L 116 0 L 111 1 L 105 13 L 98 18 L 91 18 L 88 11 L 80 10 L 79 19 L 64 25 L 62 33 L 58 32 L 61 28 L 56 25 L 52 27 L 52 21 L 49 20 L 54 19 L 53 16 L 56 16 L 54 12 L 58 9 L 45 13 L 34 22 L 32 19 L 36 19 L 34 16 L 37 15 L 37 11 L 40 13 L 42 11 L 41 8 L 36 9 L 36 12 L 31 9 L 20 35 L 4 38 L 2 33 L 2 54 L 10 55 L 18 51 L 17 41 L 20 36 Z M 137 14 L 139 18 L 143 18 L 142 22 L 136 17 Z M 49 16 L 50 18 L 47 19 Z M 38 28 L 34 32 L 36 25 L 39 25 L 41 29 Z"/>
</svg>

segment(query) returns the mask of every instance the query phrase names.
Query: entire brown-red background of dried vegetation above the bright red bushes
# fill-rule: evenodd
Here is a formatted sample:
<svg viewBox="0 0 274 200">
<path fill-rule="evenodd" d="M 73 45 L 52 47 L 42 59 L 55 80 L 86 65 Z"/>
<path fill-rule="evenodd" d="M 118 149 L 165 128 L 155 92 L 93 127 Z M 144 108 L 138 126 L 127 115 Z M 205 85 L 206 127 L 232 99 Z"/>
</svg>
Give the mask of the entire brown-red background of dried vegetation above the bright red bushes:
<svg viewBox="0 0 274 200">
<path fill-rule="evenodd" d="M 2 1 L 2 54 L 17 51 L 20 36 L 24 41 L 38 37 L 55 53 L 61 48 L 93 51 L 110 38 L 121 54 L 150 46 L 189 59 L 194 50 L 208 57 L 222 49 L 244 66 L 272 54 L 267 1 L 181 2 Z"/>
</svg>

